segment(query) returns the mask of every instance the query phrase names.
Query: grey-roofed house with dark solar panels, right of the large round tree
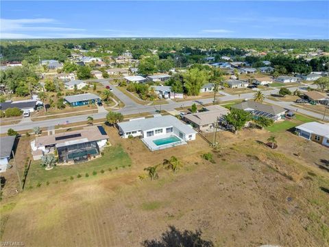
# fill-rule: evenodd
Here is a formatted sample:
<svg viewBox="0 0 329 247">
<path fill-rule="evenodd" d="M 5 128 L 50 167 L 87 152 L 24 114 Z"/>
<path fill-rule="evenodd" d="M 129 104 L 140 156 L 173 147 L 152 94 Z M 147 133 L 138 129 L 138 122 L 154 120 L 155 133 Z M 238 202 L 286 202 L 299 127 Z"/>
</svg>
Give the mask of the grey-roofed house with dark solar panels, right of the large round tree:
<svg viewBox="0 0 329 247">
<path fill-rule="evenodd" d="M 254 100 L 248 100 L 240 104 L 235 104 L 231 108 L 236 108 L 240 110 L 245 110 L 251 113 L 255 118 L 257 117 L 267 117 L 277 121 L 282 119 L 286 110 L 280 106 L 273 106 L 268 104 L 262 104 L 254 102 Z"/>
</svg>

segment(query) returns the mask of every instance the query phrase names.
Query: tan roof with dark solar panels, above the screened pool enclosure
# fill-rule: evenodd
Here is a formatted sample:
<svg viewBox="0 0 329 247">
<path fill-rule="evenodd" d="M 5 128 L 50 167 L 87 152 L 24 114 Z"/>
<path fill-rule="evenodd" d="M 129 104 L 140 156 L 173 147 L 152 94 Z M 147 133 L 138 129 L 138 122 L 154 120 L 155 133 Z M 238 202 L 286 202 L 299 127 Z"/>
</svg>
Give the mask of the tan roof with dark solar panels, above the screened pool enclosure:
<svg viewBox="0 0 329 247">
<path fill-rule="evenodd" d="M 83 128 L 82 130 L 52 134 L 44 137 L 36 137 L 36 147 L 45 146 L 45 145 L 57 145 L 59 143 L 65 143 L 66 141 L 81 140 L 83 142 L 88 142 L 88 141 L 100 141 L 103 139 L 108 139 L 108 135 L 106 134 L 106 132 L 105 134 L 104 132 L 102 134 L 101 130 L 99 130 L 99 127 L 102 128 L 101 126 L 88 126 Z M 56 140 L 56 137 L 67 137 L 73 134 L 81 134 L 81 136 Z"/>
</svg>

